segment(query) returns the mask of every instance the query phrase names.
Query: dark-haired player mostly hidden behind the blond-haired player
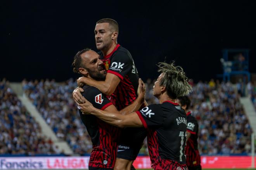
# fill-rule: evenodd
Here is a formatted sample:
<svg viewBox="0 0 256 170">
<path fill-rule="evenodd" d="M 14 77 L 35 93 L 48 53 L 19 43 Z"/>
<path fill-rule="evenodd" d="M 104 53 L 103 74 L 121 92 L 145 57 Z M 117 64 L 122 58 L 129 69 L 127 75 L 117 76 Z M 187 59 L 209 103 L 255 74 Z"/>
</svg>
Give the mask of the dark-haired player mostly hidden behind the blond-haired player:
<svg viewBox="0 0 256 170">
<path fill-rule="evenodd" d="M 198 122 L 189 111 L 190 99 L 187 96 L 178 97 L 177 103 L 187 113 L 187 146 L 185 148 L 187 167 L 189 170 L 201 170 L 201 158 L 197 148 Z"/>
</svg>

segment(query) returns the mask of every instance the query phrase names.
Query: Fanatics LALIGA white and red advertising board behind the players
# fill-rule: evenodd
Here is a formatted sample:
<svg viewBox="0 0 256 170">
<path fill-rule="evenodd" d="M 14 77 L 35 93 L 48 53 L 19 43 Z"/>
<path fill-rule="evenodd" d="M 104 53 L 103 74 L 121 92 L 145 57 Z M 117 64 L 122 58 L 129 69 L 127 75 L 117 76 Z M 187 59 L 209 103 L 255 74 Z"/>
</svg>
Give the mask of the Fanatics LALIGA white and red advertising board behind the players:
<svg viewBox="0 0 256 170">
<path fill-rule="evenodd" d="M 0 157 L 2 169 L 88 169 L 89 156 Z M 256 158 L 254 158 L 256 162 Z M 135 168 L 150 168 L 149 156 L 138 156 Z M 202 168 L 250 168 L 251 156 L 201 156 Z"/>
</svg>

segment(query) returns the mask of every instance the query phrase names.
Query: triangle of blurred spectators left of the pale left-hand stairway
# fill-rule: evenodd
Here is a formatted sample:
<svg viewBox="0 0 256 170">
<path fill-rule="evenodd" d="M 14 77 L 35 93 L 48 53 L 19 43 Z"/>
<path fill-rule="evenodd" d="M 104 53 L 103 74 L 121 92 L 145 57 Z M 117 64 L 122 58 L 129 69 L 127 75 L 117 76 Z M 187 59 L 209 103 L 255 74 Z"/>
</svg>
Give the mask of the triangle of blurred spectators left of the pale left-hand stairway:
<svg viewBox="0 0 256 170">
<path fill-rule="evenodd" d="M 0 155 L 59 153 L 5 79 L 0 81 L 0 129 Z"/>
</svg>

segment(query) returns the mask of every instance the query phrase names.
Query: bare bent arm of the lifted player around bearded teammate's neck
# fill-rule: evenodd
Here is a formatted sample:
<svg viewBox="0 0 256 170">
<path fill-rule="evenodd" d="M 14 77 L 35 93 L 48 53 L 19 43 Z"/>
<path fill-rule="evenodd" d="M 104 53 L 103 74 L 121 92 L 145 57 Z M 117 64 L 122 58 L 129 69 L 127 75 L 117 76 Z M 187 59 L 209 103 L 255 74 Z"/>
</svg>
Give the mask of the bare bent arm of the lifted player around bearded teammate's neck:
<svg viewBox="0 0 256 170">
<path fill-rule="evenodd" d="M 107 73 L 105 81 L 96 81 L 87 77 L 81 79 L 81 82 L 89 86 L 97 87 L 102 93 L 111 95 L 116 90 L 120 78 L 114 74 Z"/>
</svg>

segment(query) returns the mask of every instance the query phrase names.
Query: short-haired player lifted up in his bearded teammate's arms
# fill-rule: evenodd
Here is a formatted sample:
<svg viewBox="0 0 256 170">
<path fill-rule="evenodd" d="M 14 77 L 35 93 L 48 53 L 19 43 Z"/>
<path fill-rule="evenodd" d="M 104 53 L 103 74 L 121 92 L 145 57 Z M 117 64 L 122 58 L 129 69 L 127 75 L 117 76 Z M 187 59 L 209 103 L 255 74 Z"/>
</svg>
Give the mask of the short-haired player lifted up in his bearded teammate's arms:
<svg viewBox="0 0 256 170">
<path fill-rule="evenodd" d="M 78 79 L 78 85 L 84 84 L 97 87 L 114 104 L 118 110 L 125 108 L 133 103 L 137 97 L 138 72 L 134 65 L 130 52 L 117 44 L 118 23 L 112 19 L 101 19 L 95 26 L 95 41 L 107 70 L 106 79 L 103 81 L 92 80 L 87 77 Z M 83 103 L 80 92 L 83 89 L 76 88 L 73 92 L 74 100 Z M 144 128 L 122 129 L 119 141 L 115 169 L 130 170 L 133 161 L 146 137 Z M 134 140 L 136 138 L 136 140 Z"/>
</svg>

